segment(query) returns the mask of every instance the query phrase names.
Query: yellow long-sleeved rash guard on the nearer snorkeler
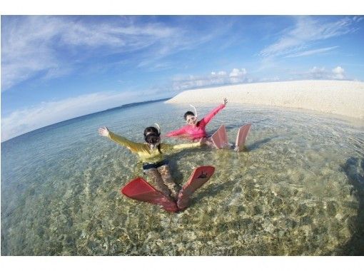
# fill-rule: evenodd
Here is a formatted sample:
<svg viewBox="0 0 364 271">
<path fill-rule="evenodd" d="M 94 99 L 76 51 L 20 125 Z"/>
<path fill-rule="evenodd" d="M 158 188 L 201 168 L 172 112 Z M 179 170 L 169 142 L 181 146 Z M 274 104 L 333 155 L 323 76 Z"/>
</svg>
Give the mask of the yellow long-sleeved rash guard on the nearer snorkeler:
<svg viewBox="0 0 364 271">
<path fill-rule="evenodd" d="M 201 145 L 200 142 L 196 143 L 186 143 L 171 145 L 166 143 L 161 143 L 161 152 L 159 153 L 158 148 L 151 149 L 148 143 L 136 143 L 122 136 L 118 136 L 115 133 L 109 132 L 108 138 L 115 141 L 116 143 L 125 146 L 132 153 L 136 153 L 143 163 L 158 163 L 161 162 L 163 158 L 163 153 L 171 150 L 183 150 L 185 148 L 196 148 Z"/>
</svg>

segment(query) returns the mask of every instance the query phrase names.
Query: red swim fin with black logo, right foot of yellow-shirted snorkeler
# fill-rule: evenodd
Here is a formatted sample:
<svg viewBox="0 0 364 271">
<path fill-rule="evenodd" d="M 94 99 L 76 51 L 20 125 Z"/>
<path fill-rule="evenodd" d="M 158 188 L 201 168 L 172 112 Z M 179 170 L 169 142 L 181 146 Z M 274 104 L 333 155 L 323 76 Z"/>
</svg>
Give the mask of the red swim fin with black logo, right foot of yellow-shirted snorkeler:
<svg viewBox="0 0 364 271">
<path fill-rule="evenodd" d="M 211 165 L 203 165 L 193 170 L 191 177 L 178 193 L 177 206 L 180 210 L 188 207 L 193 192 L 198 188 L 201 188 L 201 186 L 211 178 L 214 171 L 215 168 Z"/>
</svg>

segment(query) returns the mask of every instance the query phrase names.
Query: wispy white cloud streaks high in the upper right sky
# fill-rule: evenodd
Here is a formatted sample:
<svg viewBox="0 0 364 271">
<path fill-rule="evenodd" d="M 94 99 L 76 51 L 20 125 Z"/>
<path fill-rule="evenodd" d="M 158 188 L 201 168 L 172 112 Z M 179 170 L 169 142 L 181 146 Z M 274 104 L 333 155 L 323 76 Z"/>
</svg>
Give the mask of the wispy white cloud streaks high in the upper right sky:
<svg viewBox="0 0 364 271">
<path fill-rule="evenodd" d="M 333 22 L 315 20 L 314 17 L 297 16 L 293 29 L 286 29 L 274 44 L 263 48 L 260 56 L 270 58 L 275 56 L 305 56 L 322 53 L 322 49 L 307 50 L 313 41 L 321 41 L 335 36 L 341 36 L 356 31 L 353 24 L 358 19 L 344 18 Z M 330 47 L 333 48 L 333 47 Z"/>
</svg>

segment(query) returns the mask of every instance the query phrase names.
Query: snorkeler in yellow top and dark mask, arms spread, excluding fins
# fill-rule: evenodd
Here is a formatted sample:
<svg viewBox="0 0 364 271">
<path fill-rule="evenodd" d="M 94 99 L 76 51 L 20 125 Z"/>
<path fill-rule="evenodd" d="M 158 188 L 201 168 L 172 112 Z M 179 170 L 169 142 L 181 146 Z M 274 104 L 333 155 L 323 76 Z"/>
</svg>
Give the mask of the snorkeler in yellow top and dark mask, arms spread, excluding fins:
<svg viewBox="0 0 364 271">
<path fill-rule="evenodd" d="M 179 189 L 178 185 L 173 181 L 168 160 L 164 158 L 163 154 L 171 150 L 196 148 L 206 143 L 206 138 L 201 138 L 196 143 L 179 145 L 161 143 L 160 131 L 152 126 L 144 130 L 144 140 L 146 140 L 146 143 L 136 143 L 123 136 L 118 136 L 109 131 L 107 127 L 98 128 L 98 133 L 125 146 L 132 153 L 136 153 L 143 162 L 143 172 L 148 176 L 148 181 L 152 183 L 156 190 L 173 199 L 177 198 Z"/>
</svg>

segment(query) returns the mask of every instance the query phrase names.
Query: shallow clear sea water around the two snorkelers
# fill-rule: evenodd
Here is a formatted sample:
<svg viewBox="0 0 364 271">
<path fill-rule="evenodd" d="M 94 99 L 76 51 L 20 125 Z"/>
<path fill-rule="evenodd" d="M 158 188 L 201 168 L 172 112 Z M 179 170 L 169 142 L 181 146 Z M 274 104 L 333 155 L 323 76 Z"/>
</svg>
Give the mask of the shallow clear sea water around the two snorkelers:
<svg viewBox="0 0 364 271">
<path fill-rule="evenodd" d="M 200 116 L 213 108 L 196 107 Z M 190 208 L 171 214 L 121 195 L 141 165 L 98 127 L 141 142 L 143 128 L 171 131 L 190 109 L 119 108 L 2 143 L 1 255 L 364 254 L 363 121 L 228 103 L 207 131 L 224 123 L 233 143 L 252 123 L 246 152 L 169 156 L 181 184 L 198 165 L 216 167 Z"/>
</svg>

